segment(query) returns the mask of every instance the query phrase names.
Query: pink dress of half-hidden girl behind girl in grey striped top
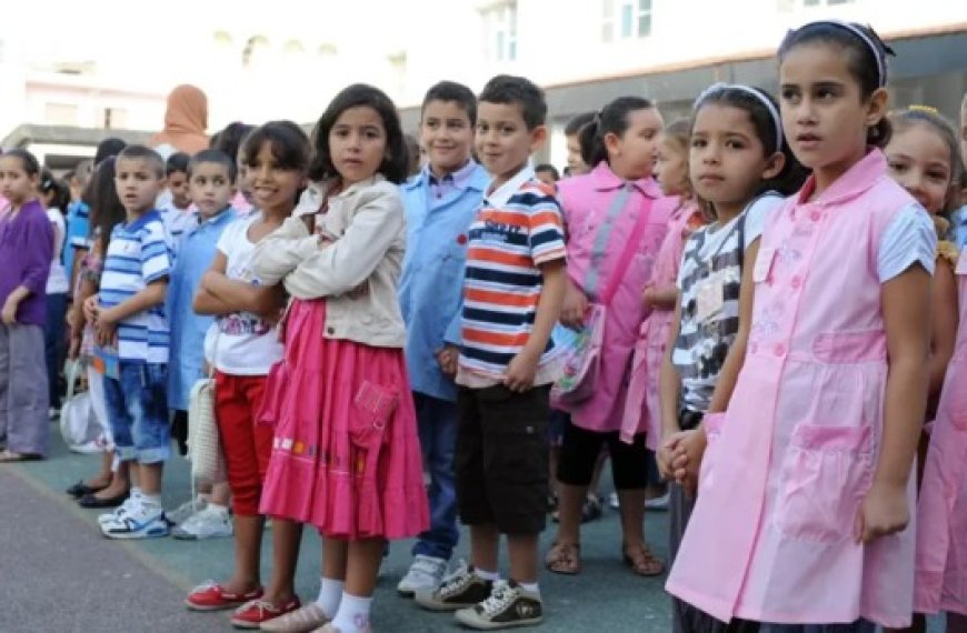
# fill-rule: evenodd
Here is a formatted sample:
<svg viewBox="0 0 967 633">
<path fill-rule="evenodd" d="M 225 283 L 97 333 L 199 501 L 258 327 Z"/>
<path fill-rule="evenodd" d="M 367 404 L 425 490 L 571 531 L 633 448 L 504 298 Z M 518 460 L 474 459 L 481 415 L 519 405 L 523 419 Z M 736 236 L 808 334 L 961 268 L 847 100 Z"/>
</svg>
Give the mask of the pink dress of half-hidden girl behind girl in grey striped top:
<svg viewBox="0 0 967 633">
<path fill-rule="evenodd" d="M 675 285 L 685 240 L 694 230 L 701 211 L 694 203 L 680 205 L 668 220 L 668 233 L 658 249 L 651 269 L 652 288 Z M 641 323 L 638 342 L 631 361 L 631 379 L 625 402 L 625 419 L 621 422 L 621 440 L 631 442 L 638 433 L 646 433 L 645 441 L 652 451 L 661 443 L 661 403 L 658 398 L 658 374 L 668 345 L 668 332 L 675 310 L 652 310 Z"/>
</svg>

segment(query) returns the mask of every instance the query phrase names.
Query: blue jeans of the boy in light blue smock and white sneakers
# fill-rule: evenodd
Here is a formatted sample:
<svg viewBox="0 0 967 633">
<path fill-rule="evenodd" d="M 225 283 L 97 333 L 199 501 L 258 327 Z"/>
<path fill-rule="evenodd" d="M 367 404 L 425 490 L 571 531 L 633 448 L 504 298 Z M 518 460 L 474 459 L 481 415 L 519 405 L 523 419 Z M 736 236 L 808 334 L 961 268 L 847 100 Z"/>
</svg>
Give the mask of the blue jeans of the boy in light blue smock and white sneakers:
<svg viewBox="0 0 967 633">
<path fill-rule="evenodd" d="M 413 402 L 423 463 L 430 471 L 430 529 L 420 534 L 412 554 L 449 561 L 460 537 L 453 481 L 457 404 L 416 392 Z"/>
</svg>

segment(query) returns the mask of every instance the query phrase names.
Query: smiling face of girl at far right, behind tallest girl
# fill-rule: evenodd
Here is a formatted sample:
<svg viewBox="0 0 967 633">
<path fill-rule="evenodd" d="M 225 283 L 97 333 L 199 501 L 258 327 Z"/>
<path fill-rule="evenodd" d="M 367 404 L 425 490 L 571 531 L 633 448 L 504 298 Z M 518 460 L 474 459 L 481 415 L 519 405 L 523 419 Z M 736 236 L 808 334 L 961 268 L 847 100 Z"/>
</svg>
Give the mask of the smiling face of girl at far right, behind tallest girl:
<svg viewBox="0 0 967 633">
<path fill-rule="evenodd" d="M 886 148 L 890 175 L 924 209 L 944 210 L 953 177 L 950 148 L 927 123 L 914 123 L 894 133 Z"/>
</svg>

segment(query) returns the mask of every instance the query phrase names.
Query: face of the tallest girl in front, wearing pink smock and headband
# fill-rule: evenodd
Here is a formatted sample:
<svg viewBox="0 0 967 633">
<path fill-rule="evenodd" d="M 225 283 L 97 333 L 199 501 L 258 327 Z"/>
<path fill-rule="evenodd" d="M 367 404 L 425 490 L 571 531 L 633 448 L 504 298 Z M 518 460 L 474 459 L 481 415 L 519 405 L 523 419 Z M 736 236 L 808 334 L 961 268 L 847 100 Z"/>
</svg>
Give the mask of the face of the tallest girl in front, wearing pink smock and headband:
<svg viewBox="0 0 967 633">
<path fill-rule="evenodd" d="M 867 129 L 886 111 L 886 91 L 863 98 L 847 68 L 849 54 L 836 46 L 805 43 L 788 51 L 779 67 L 786 138 L 817 178 L 823 172 L 835 180 L 863 159 Z"/>
</svg>

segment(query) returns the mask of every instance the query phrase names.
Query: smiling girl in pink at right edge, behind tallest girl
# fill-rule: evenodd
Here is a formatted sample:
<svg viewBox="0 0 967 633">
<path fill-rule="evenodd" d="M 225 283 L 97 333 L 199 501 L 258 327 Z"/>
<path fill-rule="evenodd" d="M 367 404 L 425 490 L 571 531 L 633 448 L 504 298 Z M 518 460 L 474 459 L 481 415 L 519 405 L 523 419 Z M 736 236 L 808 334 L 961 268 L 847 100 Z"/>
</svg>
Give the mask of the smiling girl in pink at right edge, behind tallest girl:
<svg viewBox="0 0 967 633">
<path fill-rule="evenodd" d="M 916 107 L 890 118 L 894 134 L 886 154 L 890 174 L 929 212 L 937 225 L 937 269 L 933 290 L 930 399 L 927 421 L 936 420 L 921 462 L 918 502 L 916 593 L 917 627 L 921 613 L 947 612 L 947 630 L 967 631 L 967 409 L 964 371 L 967 332 L 965 263 L 957 247 L 944 240 L 941 214 L 956 209 L 964 165 L 953 125 L 936 110 Z M 957 289 L 960 287 L 958 305 Z M 945 380 L 946 376 L 946 380 Z M 921 449 L 928 435 L 921 435 Z M 959 627 L 958 627 L 959 619 Z"/>
</svg>

